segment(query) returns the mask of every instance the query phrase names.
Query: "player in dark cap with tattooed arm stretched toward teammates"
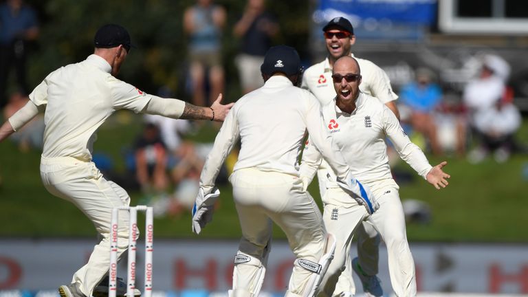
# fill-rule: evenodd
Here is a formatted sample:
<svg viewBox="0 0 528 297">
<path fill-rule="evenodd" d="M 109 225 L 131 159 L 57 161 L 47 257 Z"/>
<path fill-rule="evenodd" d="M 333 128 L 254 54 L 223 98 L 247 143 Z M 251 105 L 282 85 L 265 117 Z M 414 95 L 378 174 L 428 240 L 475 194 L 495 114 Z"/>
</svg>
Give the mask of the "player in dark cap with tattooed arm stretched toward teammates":
<svg viewBox="0 0 528 297">
<path fill-rule="evenodd" d="M 119 109 L 170 118 L 217 120 L 225 118 L 232 104 L 196 107 L 177 99 L 149 95 L 115 78 L 131 47 L 129 33 L 120 25 L 104 25 L 94 37 L 95 51 L 85 61 L 56 69 L 30 94 L 30 102 L 0 127 L 0 142 L 39 111 L 44 111 L 44 147 L 41 178 L 53 195 L 75 204 L 94 223 L 102 236 L 88 263 L 78 270 L 70 285 L 61 285 L 62 297 L 104 293 L 96 285 L 108 273 L 110 263 L 110 220 L 115 207 L 128 206 L 126 191 L 105 179 L 91 162 L 96 131 Z M 128 241 L 128 213 L 119 216 L 118 254 L 122 258 Z M 118 285 L 118 295 L 126 284 Z M 108 289 L 106 288 L 106 292 Z M 135 295 L 141 294 L 135 290 Z"/>
</svg>

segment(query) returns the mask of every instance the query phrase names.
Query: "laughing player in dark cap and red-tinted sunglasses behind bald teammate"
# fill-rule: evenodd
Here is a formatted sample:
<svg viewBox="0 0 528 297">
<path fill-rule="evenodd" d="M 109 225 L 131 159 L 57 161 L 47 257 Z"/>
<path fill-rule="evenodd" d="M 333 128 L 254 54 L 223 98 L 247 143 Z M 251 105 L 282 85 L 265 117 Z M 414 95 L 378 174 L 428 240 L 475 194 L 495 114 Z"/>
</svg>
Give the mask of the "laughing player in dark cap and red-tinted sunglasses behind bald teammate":
<svg viewBox="0 0 528 297">
<path fill-rule="evenodd" d="M 344 17 L 332 19 L 322 30 L 325 35 L 328 56 L 324 61 L 312 65 L 305 71 L 302 87 L 311 91 L 321 104 L 327 104 L 336 97 L 331 78 L 332 67 L 338 58 L 342 56 L 354 57 L 351 52 L 351 46 L 355 43 L 355 35 L 353 26 Z M 358 61 L 362 70 L 362 83 L 360 85 L 362 93 L 380 100 L 399 118 L 399 111 L 395 104 L 398 96 L 394 93 L 387 74 L 369 60 L 354 58 Z M 327 171 L 328 166 L 323 160 L 317 174 L 321 197 L 325 196 L 327 190 Z M 358 234 L 359 259 L 354 259 L 355 263 L 358 263 L 358 265 L 355 265 L 355 271 L 360 272 L 358 276 L 360 276 L 366 294 L 369 294 L 369 296 L 382 296 L 382 287 L 376 277 L 380 236 L 369 221 L 363 221 L 356 230 L 356 234 Z M 347 253 L 347 258 L 349 258 L 349 253 Z M 360 265 L 363 267 L 361 271 L 358 270 Z M 340 276 L 336 292 L 342 292 L 349 296 L 353 295 L 351 292 L 355 292 L 350 260 L 347 260 L 345 271 Z"/>
</svg>

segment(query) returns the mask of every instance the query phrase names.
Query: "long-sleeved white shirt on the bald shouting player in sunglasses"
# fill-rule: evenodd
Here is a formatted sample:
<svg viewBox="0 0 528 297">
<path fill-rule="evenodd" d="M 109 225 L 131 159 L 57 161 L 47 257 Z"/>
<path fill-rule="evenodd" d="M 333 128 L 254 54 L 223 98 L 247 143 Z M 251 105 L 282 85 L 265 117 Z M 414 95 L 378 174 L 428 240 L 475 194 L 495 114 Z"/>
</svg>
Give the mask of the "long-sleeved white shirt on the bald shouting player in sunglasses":
<svg viewBox="0 0 528 297">
<path fill-rule="evenodd" d="M 340 111 L 335 99 L 322 106 L 327 130 L 351 166 L 351 174 L 364 184 L 390 179 L 385 137 L 393 142 L 401 159 L 426 177 L 432 166 L 421 149 L 410 142 L 394 113 L 376 98 L 360 93 L 351 113 Z M 312 178 L 320 166 L 320 154 L 308 145 L 303 153 L 300 175 Z M 336 177 L 329 170 L 328 188 L 336 188 Z"/>
</svg>

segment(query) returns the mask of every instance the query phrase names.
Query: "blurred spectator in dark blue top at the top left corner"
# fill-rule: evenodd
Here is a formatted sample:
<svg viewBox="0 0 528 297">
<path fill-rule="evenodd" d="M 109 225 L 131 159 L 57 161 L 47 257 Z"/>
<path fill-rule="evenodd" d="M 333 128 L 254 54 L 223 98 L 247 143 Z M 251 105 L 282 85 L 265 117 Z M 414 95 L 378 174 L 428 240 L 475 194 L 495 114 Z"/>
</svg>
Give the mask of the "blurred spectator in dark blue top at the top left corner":
<svg viewBox="0 0 528 297">
<path fill-rule="evenodd" d="M 11 67 L 17 72 L 17 91 L 29 94 L 25 61 L 28 41 L 39 35 L 36 13 L 23 0 L 7 0 L 0 5 L 0 108 L 6 104 L 5 93 Z"/>
</svg>

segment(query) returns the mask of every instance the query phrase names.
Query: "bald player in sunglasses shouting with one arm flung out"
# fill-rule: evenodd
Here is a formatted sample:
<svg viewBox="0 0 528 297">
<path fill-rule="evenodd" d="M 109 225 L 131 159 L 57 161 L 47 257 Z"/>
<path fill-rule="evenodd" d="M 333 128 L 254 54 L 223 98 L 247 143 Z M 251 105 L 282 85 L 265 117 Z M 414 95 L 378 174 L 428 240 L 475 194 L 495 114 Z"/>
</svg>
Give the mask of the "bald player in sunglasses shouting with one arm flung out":
<svg viewBox="0 0 528 297">
<path fill-rule="evenodd" d="M 350 164 L 353 176 L 370 188 L 380 203 L 380 208 L 367 219 L 386 243 L 389 273 L 396 296 L 415 296 L 415 265 L 407 243 L 399 187 L 388 165 L 385 137 L 393 142 L 401 159 L 437 189 L 448 185 L 450 175 L 442 170 L 447 162 L 432 167 L 421 149 L 410 142 L 394 113 L 380 100 L 360 91 L 362 76 L 355 58 L 339 58 L 333 65 L 332 81 L 337 96 L 322 106 L 322 117 L 331 123 L 328 128 L 332 129 L 333 141 Z M 320 153 L 308 146 L 303 153 L 301 178 L 314 177 L 320 161 Z M 355 203 L 342 199 L 342 191 L 333 183 L 336 177 L 330 170 L 328 174 L 327 191 L 322 197 L 325 203 L 323 216 L 328 232 L 336 237 L 337 246 L 325 276 L 331 279 L 326 283 L 325 292 L 333 292 L 327 296 L 339 296 L 340 292 L 334 291 L 333 286 L 349 251 L 347 245 L 353 235 L 352 228 L 348 227 L 349 217 L 353 216 L 349 208 Z"/>
</svg>

